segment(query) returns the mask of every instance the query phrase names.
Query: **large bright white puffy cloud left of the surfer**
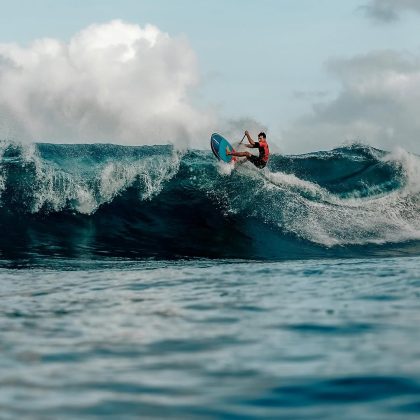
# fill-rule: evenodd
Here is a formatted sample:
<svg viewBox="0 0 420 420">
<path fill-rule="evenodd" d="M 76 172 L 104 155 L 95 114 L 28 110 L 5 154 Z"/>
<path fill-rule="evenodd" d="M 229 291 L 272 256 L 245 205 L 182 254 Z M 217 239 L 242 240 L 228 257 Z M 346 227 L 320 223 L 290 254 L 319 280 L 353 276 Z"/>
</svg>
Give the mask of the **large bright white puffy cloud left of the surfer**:
<svg viewBox="0 0 420 420">
<path fill-rule="evenodd" d="M 198 145 L 212 116 L 188 98 L 198 82 L 185 39 L 114 20 L 69 42 L 0 44 L 0 137 Z"/>
</svg>

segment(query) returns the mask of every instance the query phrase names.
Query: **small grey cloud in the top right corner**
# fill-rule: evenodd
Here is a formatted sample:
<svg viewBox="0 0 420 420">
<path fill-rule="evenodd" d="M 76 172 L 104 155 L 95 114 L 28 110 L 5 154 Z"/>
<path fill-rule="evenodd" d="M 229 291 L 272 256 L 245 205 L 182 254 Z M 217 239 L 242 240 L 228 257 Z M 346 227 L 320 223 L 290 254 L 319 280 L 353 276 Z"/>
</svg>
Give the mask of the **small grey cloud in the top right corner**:
<svg viewBox="0 0 420 420">
<path fill-rule="evenodd" d="M 402 12 L 420 13 L 420 0 L 370 0 L 362 9 L 372 19 L 392 22 L 397 20 Z"/>
</svg>

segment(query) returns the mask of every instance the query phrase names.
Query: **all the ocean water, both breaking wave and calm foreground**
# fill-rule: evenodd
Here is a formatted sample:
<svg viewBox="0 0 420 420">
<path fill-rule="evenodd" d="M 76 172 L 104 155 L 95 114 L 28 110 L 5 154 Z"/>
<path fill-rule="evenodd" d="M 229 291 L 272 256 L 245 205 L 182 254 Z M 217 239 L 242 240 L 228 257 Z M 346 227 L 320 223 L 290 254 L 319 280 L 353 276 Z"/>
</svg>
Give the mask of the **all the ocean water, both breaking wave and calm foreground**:
<svg viewBox="0 0 420 420">
<path fill-rule="evenodd" d="M 0 418 L 420 416 L 420 162 L 0 147 Z"/>
</svg>

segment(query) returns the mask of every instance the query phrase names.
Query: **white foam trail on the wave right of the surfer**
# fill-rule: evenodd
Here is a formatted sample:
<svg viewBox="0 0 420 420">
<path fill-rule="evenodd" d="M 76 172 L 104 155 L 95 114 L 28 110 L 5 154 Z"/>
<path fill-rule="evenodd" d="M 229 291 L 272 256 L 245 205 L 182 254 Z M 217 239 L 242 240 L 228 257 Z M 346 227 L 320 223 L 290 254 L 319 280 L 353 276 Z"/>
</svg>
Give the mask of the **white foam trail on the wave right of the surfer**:
<svg viewBox="0 0 420 420">
<path fill-rule="evenodd" d="M 342 197 L 293 174 L 248 169 L 241 175 L 255 185 L 253 193 L 231 205 L 328 247 L 420 239 L 420 159 L 397 149 L 382 160 L 400 170 L 401 188 Z"/>
</svg>

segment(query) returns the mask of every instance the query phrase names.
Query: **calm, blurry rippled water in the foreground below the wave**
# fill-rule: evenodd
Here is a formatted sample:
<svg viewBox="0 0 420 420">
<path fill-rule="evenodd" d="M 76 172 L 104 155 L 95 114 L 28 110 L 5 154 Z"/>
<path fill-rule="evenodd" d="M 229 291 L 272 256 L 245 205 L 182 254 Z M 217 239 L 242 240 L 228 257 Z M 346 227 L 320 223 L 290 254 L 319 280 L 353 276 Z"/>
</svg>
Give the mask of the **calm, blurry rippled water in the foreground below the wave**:
<svg viewBox="0 0 420 420">
<path fill-rule="evenodd" d="M 2 266 L 2 419 L 420 416 L 419 257 Z"/>
</svg>

